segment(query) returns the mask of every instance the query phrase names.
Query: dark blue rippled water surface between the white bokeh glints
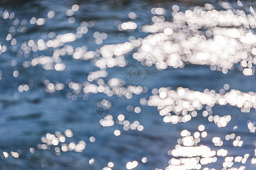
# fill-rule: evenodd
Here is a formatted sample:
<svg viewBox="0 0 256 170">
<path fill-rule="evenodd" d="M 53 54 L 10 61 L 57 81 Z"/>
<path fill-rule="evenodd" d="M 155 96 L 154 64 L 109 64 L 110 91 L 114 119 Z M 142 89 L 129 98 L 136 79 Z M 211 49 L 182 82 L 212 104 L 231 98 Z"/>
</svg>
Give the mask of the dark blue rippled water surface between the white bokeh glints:
<svg viewBox="0 0 256 170">
<path fill-rule="evenodd" d="M 122 1 L 120 1 L 121 3 Z M 146 37 L 148 33 L 138 31 L 139 27 L 144 24 L 151 24 L 150 18 L 153 16 L 150 12 L 152 7 L 164 7 L 167 10 L 166 20 L 171 20 L 171 6 L 179 5 L 181 11 L 189 7 L 201 5 L 205 2 L 212 3 L 218 7 L 216 1 L 123 1 L 117 5 L 116 1 L 1 1 L 0 10 L 14 12 L 15 18 L 27 20 L 26 33 L 16 33 L 14 36 L 17 40 L 17 46 L 28 40 L 44 39 L 48 40 L 47 34 L 55 32 L 56 35 L 76 32 L 82 21 L 94 22 L 93 27 L 88 28 L 88 33 L 74 42 L 68 42 L 73 48 L 85 45 L 88 50 L 97 50 L 105 44 L 117 44 L 126 42 L 130 36 Z M 118 2 L 119 3 L 119 2 Z M 231 2 L 234 8 L 238 8 L 237 2 Z M 253 6 L 255 2 L 243 2 L 245 6 Z M 80 10 L 75 12 L 76 21 L 73 24 L 68 23 L 68 16 L 65 11 L 71 8 L 73 4 L 78 4 Z M 255 7 L 255 6 L 253 6 Z M 240 7 L 243 9 L 243 7 Z M 55 11 L 55 18 L 48 19 L 47 12 Z M 248 12 L 247 8 L 245 12 Z M 135 12 L 138 25 L 136 30 L 120 32 L 115 25 L 119 20 L 120 23 L 128 22 L 129 12 Z M 32 17 L 46 18 L 44 25 L 31 25 L 29 23 Z M 177 139 L 181 138 L 180 132 L 184 129 L 191 131 L 191 134 L 198 131 L 198 126 L 205 125 L 205 131 L 208 135 L 202 138 L 200 145 L 207 145 L 212 150 L 224 148 L 228 150 L 228 156 L 243 156 L 251 154 L 255 157 L 255 133 L 250 133 L 247 128 L 247 121 L 256 121 L 256 112 L 251 109 L 249 113 L 242 113 L 240 108 L 230 105 L 218 105 L 213 108 L 213 116 L 231 115 L 232 120 L 225 128 L 218 128 L 214 122 L 209 122 L 206 117 L 202 116 L 205 106 L 198 112 L 198 116 L 192 117 L 191 121 L 186 123 L 171 124 L 164 123 L 163 117 L 159 115 L 156 107 L 141 105 L 142 97 L 150 97 L 154 88 L 170 87 L 176 90 L 178 87 L 189 88 L 190 90 L 203 92 L 206 88 L 218 92 L 228 83 L 231 89 L 242 92 L 256 91 L 255 75 L 245 76 L 242 71 L 238 71 L 237 65 L 234 70 L 227 74 L 220 71 L 210 70 L 210 66 L 187 64 L 181 68 L 168 68 L 166 70 L 157 70 L 152 67 L 150 72 L 146 72 L 145 79 L 139 84 L 147 87 L 148 92 L 141 95 L 133 94 L 131 99 L 118 99 L 117 96 L 109 97 L 105 94 L 88 94 L 88 100 L 78 97 L 76 101 L 69 99 L 67 93 L 71 92 L 67 82 L 83 83 L 92 71 L 99 70 L 93 65 L 93 62 L 81 61 L 71 56 L 63 56 L 61 59 L 66 65 L 64 71 L 44 70 L 41 65 L 23 67 L 23 62 L 28 61 L 30 57 L 38 54 L 46 56 L 51 55 L 52 51 L 43 50 L 31 52 L 31 56 L 24 55 L 17 57 L 16 52 L 10 42 L 6 42 L 6 36 L 11 23 L 0 19 L 0 41 L 7 46 L 7 52 L 0 56 L 0 154 L 3 152 L 19 152 L 19 158 L 2 158 L 0 169 L 102 169 L 109 162 L 114 163 L 112 169 L 126 169 L 127 162 L 136 160 L 139 164 L 135 169 L 165 169 L 168 166 L 168 160 L 173 158 L 168 155 L 169 150 L 173 150 L 177 144 Z M 105 32 L 108 39 L 104 40 L 101 45 L 94 43 L 94 32 Z M 108 77 L 104 78 L 107 82 L 110 78 L 125 79 L 136 65 L 141 65 L 132 57 L 132 53 L 126 56 L 127 66 L 113 67 L 107 69 Z M 15 59 L 16 66 L 11 62 Z M 144 67 L 141 65 L 141 67 Z M 19 71 L 19 76 L 14 78 L 13 72 Z M 43 90 L 44 80 L 65 84 L 64 90 L 56 91 L 49 94 Z M 20 84 L 30 84 L 28 91 L 19 92 L 17 89 Z M 126 80 L 126 84 L 130 83 Z M 96 102 L 102 98 L 109 98 L 114 102 L 115 109 L 113 120 L 117 121 L 117 116 L 123 114 L 125 120 L 130 122 L 139 121 L 144 126 L 143 131 L 123 130 L 122 125 L 114 124 L 111 127 L 103 127 L 100 124 L 102 117 L 95 113 Z M 127 105 L 140 107 L 141 112 L 135 113 L 127 111 Z M 233 129 L 238 126 L 237 129 Z M 64 133 L 65 130 L 71 129 L 73 137 L 67 138 L 66 142 L 85 141 L 86 147 L 82 152 L 68 151 L 61 152 L 57 156 L 54 147 L 50 150 L 40 150 L 38 144 L 42 143 L 41 138 L 47 133 L 54 134 L 55 131 Z M 115 136 L 114 130 L 120 130 L 121 135 Z M 225 141 L 226 134 L 236 133 L 243 140 L 242 147 L 234 147 L 232 140 Z M 90 142 L 90 137 L 95 137 L 95 142 Z M 221 137 L 224 145 L 221 147 L 214 146 L 213 137 Z M 30 148 L 35 148 L 35 153 L 30 152 Z M 141 159 L 147 158 L 147 163 L 142 163 Z M 216 163 L 203 165 L 204 167 L 221 169 L 225 157 L 218 156 Z M 93 164 L 89 160 L 94 159 Z M 255 165 L 250 163 L 250 159 L 245 164 L 234 163 L 235 167 L 244 165 L 246 169 L 255 169 Z"/>
</svg>

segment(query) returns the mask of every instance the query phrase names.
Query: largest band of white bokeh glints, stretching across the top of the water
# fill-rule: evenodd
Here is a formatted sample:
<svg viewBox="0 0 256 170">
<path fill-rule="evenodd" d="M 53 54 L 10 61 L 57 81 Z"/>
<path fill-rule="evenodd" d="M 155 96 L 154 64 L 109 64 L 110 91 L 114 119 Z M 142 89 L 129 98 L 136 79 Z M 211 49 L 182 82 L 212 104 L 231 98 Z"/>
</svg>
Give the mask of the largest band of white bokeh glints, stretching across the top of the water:
<svg viewBox="0 0 256 170">
<path fill-rule="evenodd" d="M 73 10 L 76 11 L 79 8 Z M 73 10 L 69 9 L 66 12 L 66 15 L 71 16 L 69 18 L 71 20 L 74 18 Z M 234 69 L 234 65 L 240 63 L 238 69 L 242 70 L 243 74 L 254 74 L 256 36 L 251 30 L 251 28 L 255 28 L 253 8 L 250 8 L 251 14 L 247 15 L 242 10 L 217 11 L 210 4 L 185 12 L 179 11 L 178 6 L 173 6 L 172 10 L 172 22 L 165 22 L 163 8 L 151 10 L 152 14 L 156 14 L 152 18 L 154 24 L 144 25 L 142 31 L 152 34 L 144 39 L 130 37 L 128 42 L 104 45 L 96 51 L 88 51 L 86 46 L 73 48 L 72 45 L 65 45 L 67 42 L 80 39 L 88 32 L 88 28 L 93 27 L 93 22 L 82 22 L 80 27 L 77 27 L 76 33 L 56 35 L 55 32 L 49 32 L 46 35 L 48 40 L 28 40 L 23 44 L 16 44 L 17 40 L 14 38 L 16 32 L 26 32 L 27 24 L 30 24 L 29 27 L 35 23 L 43 25 L 46 23 L 46 19 L 33 17 L 30 21 L 22 20 L 20 23 L 19 19 L 14 18 L 14 13 L 9 15 L 8 11 L 3 12 L 3 18 L 13 22 L 10 33 L 6 36 L 6 41 L 11 41 L 13 46 L 11 50 L 17 56 L 22 54 L 34 56 L 23 62 L 24 67 L 42 65 L 46 70 L 64 71 L 65 64 L 61 63 L 61 56 L 65 55 L 75 59 L 93 59 L 94 65 L 100 69 L 114 66 L 124 67 L 127 64 L 124 55 L 132 50 L 137 50 L 133 53 L 134 59 L 138 61 L 146 59 L 147 66 L 155 64 L 158 69 L 167 69 L 168 66 L 184 67 L 186 63 L 192 63 L 209 65 L 210 69 L 226 74 L 228 70 Z M 54 11 L 48 13 L 48 19 L 53 19 Z M 136 14 L 133 13 L 129 16 L 134 18 Z M 120 27 L 123 30 L 135 29 L 137 25 L 134 22 L 127 22 L 122 23 Z M 96 44 L 102 44 L 108 35 L 94 32 L 93 37 Z M 49 50 L 49 48 L 53 49 L 52 56 L 37 56 L 35 54 L 38 51 Z M 1 53 L 4 53 L 7 46 L 2 44 L 0 49 Z M 147 57 L 147 53 L 157 56 L 156 61 Z"/>
</svg>

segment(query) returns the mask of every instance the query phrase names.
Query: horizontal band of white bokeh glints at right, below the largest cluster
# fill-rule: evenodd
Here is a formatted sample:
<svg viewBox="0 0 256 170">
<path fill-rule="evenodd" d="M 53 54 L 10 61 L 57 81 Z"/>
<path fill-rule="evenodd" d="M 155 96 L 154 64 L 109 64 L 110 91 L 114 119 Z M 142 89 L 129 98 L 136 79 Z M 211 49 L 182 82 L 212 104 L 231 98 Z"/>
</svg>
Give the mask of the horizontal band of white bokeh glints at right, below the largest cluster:
<svg viewBox="0 0 256 170">
<path fill-rule="evenodd" d="M 227 86 L 228 84 L 225 84 L 224 88 Z M 227 92 L 224 88 L 220 90 L 220 93 L 217 93 L 208 89 L 205 89 L 204 92 L 199 92 L 181 87 L 177 88 L 177 90 L 161 87 L 159 90 L 152 90 L 154 95 L 149 97 L 147 104 L 158 108 L 159 114 L 164 116 L 164 122 L 172 122 L 173 124 L 191 120 L 191 117 L 196 117 L 197 111 L 200 111 L 206 105 L 206 111 L 203 111 L 203 116 L 208 117 L 210 122 L 214 121 L 219 128 L 225 127 L 232 117 L 230 115 L 223 117 L 212 116 L 212 107 L 215 104 L 229 104 L 241 108 L 242 112 L 249 113 L 251 108 L 256 109 L 256 95 L 254 92 L 245 93 L 239 90 Z M 254 129 L 253 123 L 249 123 L 248 127 Z"/>
</svg>

